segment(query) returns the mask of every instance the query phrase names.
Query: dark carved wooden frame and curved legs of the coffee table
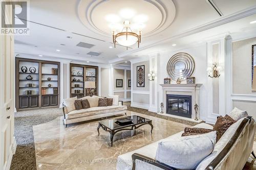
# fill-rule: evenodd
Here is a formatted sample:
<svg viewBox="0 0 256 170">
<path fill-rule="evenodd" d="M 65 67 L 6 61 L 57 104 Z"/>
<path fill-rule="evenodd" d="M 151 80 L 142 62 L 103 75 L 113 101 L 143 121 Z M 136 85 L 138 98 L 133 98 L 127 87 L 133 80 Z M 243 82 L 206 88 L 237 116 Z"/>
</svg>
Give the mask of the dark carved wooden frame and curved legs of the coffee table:
<svg viewBox="0 0 256 170">
<path fill-rule="evenodd" d="M 152 133 L 152 130 L 153 130 L 153 125 L 152 125 L 152 121 L 150 122 L 145 122 L 143 124 L 139 124 L 139 125 L 131 125 L 131 128 L 130 127 L 125 127 L 123 129 L 118 129 L 118 130 L 111 130 L 109 129 L 108 127 L 102 125 L 100 122 L 99 122 L 99 126 L 97 128 L 97 131 L 98 131 L 98 136 L 99 136 L 99 128 L 102 128 L 104 131 L 106 132 L 109 132 L 110 133 L 110 141 L 111 141 L 111 147 L 113 146 L 113 138 L 114 138 L 114 135 L 117 133 L 117 132 L 120 132 L 120 131 L 125 131 L 125 130 L 135 130 L 135 129 L 138 129 L 139 127 L 143 126 L 143 125 L 150 125 L 151 126 L 151 133 Z"/>
</svg>

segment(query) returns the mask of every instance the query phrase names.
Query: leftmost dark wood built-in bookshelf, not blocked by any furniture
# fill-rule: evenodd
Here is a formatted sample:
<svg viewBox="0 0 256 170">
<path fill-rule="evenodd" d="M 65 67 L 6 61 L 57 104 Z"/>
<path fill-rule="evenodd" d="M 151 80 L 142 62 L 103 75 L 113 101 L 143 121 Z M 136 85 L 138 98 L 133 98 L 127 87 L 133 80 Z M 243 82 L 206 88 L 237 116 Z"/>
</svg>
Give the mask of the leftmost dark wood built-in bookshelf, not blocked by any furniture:
<svg viewBox="0 0 256 170">
<path fill-rule="evenodd" d="M 16 109 L 59 105 L 59 62 L 16 58 Z"/>
</svg>

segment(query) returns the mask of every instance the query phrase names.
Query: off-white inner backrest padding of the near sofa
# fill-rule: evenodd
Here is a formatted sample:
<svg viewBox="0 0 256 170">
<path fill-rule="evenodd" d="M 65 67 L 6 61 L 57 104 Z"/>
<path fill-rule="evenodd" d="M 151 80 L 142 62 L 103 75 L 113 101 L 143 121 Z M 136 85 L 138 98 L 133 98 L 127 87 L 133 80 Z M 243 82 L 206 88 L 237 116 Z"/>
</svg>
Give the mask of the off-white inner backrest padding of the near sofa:
<svg viewBox="0 0 256 170">
<path fill-rule="evenodd" d="M 243 118 L 238 120 L 238 122 L 232 124 L 227 131 L 222 135 L 220 140 L 216 143 L 214 151 L 207 156 L 204 160 L 201 161 L 201 163 L 197 166 L 197 170 L 205 169 L 208 164 L 214 160 L 217 155 L 224 149 L 230 138 L 233 136 L 233 134 L 238 129 L 239 125 L 242 123 Z"/>
</svg>

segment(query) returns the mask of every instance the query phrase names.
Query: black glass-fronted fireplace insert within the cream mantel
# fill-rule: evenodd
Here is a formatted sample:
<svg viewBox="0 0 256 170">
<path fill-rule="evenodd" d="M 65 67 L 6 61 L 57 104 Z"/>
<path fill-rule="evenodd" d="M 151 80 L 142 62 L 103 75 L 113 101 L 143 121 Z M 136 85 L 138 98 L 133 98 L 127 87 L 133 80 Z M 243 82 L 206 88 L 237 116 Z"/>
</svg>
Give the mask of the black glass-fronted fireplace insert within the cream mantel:
<svg viewBox="0 0 256 170">
<path fill-rule="evenodd" d="M 166 94 L 166 113 L 191 118 L 191 95 Z"/>
</svg>

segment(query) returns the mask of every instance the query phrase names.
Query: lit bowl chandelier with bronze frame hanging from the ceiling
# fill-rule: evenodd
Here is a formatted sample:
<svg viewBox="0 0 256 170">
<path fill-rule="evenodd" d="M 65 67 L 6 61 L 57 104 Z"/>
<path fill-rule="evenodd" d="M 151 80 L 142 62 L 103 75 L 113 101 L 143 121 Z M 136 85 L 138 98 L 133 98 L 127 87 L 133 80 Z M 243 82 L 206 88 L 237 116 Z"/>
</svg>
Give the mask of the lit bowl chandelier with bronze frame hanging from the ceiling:
<svg viewBox="0 0 256 170">
<path fill-rule="evenodd" d="M 138 47 L 141 42 L 141 31 L 139 33 L 134 33 L 130 27 L 131 22 L 129 20 L 125 20 L 123 22 L 123 29 L 120 33 L 116 33 L 115 31 L 112 31 L 113 36 L 113 43 L 116 43 L 126 46 L 126 50 L 128 50 L 128 46 L 131 46 L 135 43 L 138 43 Z"/>
</svg>

